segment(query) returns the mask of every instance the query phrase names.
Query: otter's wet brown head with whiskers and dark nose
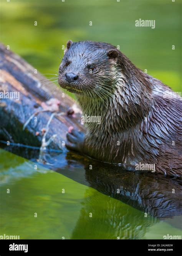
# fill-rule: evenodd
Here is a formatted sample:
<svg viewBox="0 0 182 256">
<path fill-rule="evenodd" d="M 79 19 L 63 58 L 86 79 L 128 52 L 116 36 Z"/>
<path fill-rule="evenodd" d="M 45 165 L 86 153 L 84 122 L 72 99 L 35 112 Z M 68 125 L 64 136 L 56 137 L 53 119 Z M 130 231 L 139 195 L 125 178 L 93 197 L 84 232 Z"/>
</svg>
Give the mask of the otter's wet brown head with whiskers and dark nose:
<svg viewBox="0 0 182 256">
<path fill-rule="evenodd" d="M 58 83 L 62 88 L 90 99 L 109 96 L 114 79 L 111 74 L 118 54 L 119 51 L 110 44 L 69 40 L 59 67 Z"/>
</svg>

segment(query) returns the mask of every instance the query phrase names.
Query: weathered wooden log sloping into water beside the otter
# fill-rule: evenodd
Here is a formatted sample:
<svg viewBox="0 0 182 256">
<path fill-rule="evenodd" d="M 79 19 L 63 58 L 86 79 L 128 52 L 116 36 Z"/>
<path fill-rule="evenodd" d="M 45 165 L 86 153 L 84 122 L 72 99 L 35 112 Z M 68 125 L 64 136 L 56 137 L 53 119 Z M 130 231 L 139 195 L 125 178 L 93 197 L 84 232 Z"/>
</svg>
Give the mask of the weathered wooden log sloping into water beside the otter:
<svg viewBox="0 0 182 256">
<path fill-rule="evenodd" d="M 75 101 L 47 83 L 35 68 L 0 44 L 0 140 L 40 147 L 51 138 L 49 148 L 65 151 L 62 144 L 69 126 L 83 130 L 80 114 L 67 114 Z"/>
</svg>

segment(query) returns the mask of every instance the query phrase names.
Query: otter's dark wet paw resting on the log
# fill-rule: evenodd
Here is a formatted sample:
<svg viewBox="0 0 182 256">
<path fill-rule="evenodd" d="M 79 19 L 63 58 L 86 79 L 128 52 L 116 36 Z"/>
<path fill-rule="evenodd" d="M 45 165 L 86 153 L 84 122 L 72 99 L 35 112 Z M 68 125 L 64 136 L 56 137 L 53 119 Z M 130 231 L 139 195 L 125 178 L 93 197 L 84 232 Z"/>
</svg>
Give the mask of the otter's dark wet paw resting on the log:
<svg viewBox="0 0 182 256">
<path fill-rule="evenodd" d="M 66 148 L 83 153 L 84 133 L 82 131 L 69 129 L 66 134 Z"/>
</svg>

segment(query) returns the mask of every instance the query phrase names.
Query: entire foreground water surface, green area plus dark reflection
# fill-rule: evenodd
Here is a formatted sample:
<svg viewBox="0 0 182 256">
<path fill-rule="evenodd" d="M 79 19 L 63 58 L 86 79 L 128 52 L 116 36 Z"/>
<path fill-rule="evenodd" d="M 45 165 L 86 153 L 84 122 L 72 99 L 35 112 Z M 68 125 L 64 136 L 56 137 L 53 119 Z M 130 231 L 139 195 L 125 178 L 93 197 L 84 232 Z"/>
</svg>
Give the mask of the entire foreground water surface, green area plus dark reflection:
<svg viewBox="0 0 182 256">
<path fill-rule="evenodd" d="M 107 170 L 98 163 L 89 170 L 85 159 L 76 161 L 70 153 L 55 156 L 54 161 L 60 159 L 59 168 L 50 165 L 55 171 L 39 165 L 35 158 L 32 162 L 3 149 L 0 155 L 0 234 L 19 235 L 20 239 L 181 235 L 181 185 L 176 181 Z"/>
</svg>

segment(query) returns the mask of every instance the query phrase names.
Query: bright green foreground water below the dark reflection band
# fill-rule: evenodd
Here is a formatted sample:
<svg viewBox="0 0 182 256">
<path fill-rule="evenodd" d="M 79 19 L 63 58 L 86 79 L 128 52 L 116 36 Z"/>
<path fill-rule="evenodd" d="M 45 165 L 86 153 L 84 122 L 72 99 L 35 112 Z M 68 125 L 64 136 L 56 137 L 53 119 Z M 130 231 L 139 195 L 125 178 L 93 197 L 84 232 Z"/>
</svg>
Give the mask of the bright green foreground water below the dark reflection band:
<svg viewBox="0 0 182 256">
<path fill-rule="evenodd" d="M 0 149 L 0 235 L 20 239 L 163 239 L 172 224 Z M 7 193 L 8 189 L 10 190 Z M 63 189 L 64 192 L 63 193 Z M 35 213 L 37 217 L 35 217 Z"/>
</svg>

